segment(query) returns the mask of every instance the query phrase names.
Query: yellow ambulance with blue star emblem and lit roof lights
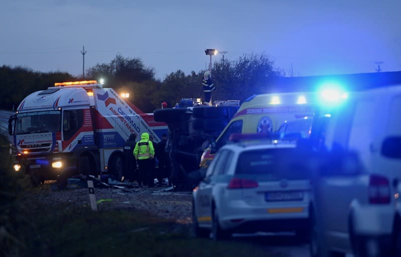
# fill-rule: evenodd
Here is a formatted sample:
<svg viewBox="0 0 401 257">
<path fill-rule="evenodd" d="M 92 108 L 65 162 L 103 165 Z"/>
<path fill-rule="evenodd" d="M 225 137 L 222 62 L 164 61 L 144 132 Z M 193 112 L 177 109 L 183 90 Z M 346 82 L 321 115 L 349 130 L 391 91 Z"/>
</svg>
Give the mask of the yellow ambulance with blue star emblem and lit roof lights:
<svg viewBox="0 0 401 257">
<path fill-rule="evenodd" d="M 329 117 L 329 111 L 347 97 L 347 92 L 336 85 L 315 92 L 253 95 L 241 104 L 221 134 L 205 149 L 200 167 L 206 168 L 232 135 L 243 134 L 248 139 L 255 138 L 249 134 L 259 134 L 259 138 L 308 138 L 317 112 Z"/>
</svg>

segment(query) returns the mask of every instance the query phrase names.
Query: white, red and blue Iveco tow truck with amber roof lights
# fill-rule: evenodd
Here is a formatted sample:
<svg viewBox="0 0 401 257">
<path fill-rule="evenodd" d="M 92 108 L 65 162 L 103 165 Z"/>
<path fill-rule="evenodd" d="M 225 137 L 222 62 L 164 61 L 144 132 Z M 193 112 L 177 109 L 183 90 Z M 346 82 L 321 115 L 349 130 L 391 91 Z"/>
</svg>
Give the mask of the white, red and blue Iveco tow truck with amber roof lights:
<svg viewBox="0 0 401 257">
<path fill-rule="evenodd" d="M 143 132 L 158 143 L 168 129 L 97 81 L 55 83 L 27 96 L 9 119 L 14 169 L 24 167 L 33 185 L 101 172 L 121 180 L 123 144 Z"/>
</svg>

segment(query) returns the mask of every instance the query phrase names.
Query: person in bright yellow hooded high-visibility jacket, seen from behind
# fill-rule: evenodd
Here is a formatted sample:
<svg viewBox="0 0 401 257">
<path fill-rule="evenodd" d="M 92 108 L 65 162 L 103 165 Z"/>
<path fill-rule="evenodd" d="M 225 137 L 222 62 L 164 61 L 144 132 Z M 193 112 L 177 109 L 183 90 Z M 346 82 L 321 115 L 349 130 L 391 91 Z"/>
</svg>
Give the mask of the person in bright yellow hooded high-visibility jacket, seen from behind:
<svg viewBox="0 0 401 257">
<path fill-rule="evenodd" d="M 152 178 L 152 165 L 155 156 L 155 148 L 153 147 L 152 141 L 149 140 L 149 133 L 142 133 L 141 140 L 138 141 L 133 149 L 133 155 L 135 156 L 135 159 L 138 160 L 139 165 L 138 184 L 142 186 L 142 183 L 147 183 L 148 186 L 152 187 L 153 183 L 151 183 L 150 180 Z"/>
</svg>

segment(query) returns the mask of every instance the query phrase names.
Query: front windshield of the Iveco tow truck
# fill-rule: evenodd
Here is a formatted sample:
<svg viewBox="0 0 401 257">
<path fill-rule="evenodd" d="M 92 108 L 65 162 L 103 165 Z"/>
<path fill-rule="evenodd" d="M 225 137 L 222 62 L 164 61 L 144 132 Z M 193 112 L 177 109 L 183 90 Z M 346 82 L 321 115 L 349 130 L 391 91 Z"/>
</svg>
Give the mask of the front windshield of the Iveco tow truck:
<svg viewBox="0 0 401 257">
<path fill-rule="evenodd" d="M 59 111 L 40 111 L 17 114 L 16 135 L 60 131 Z"/>
</svg>

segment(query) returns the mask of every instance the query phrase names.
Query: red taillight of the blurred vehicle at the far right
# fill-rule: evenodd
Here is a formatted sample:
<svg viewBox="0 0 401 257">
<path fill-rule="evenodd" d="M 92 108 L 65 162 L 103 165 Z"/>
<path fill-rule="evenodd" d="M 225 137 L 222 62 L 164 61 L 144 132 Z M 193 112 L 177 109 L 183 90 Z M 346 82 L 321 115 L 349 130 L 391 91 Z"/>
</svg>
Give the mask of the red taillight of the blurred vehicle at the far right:
<svg viewBox="0 0 401 257">
<path fill-rule="evenodd" d="M 369 179 L 369 203 L 390 203 L 390 183 L 388 179 L 379 175 L 370 175 Z"/>
</svg>

